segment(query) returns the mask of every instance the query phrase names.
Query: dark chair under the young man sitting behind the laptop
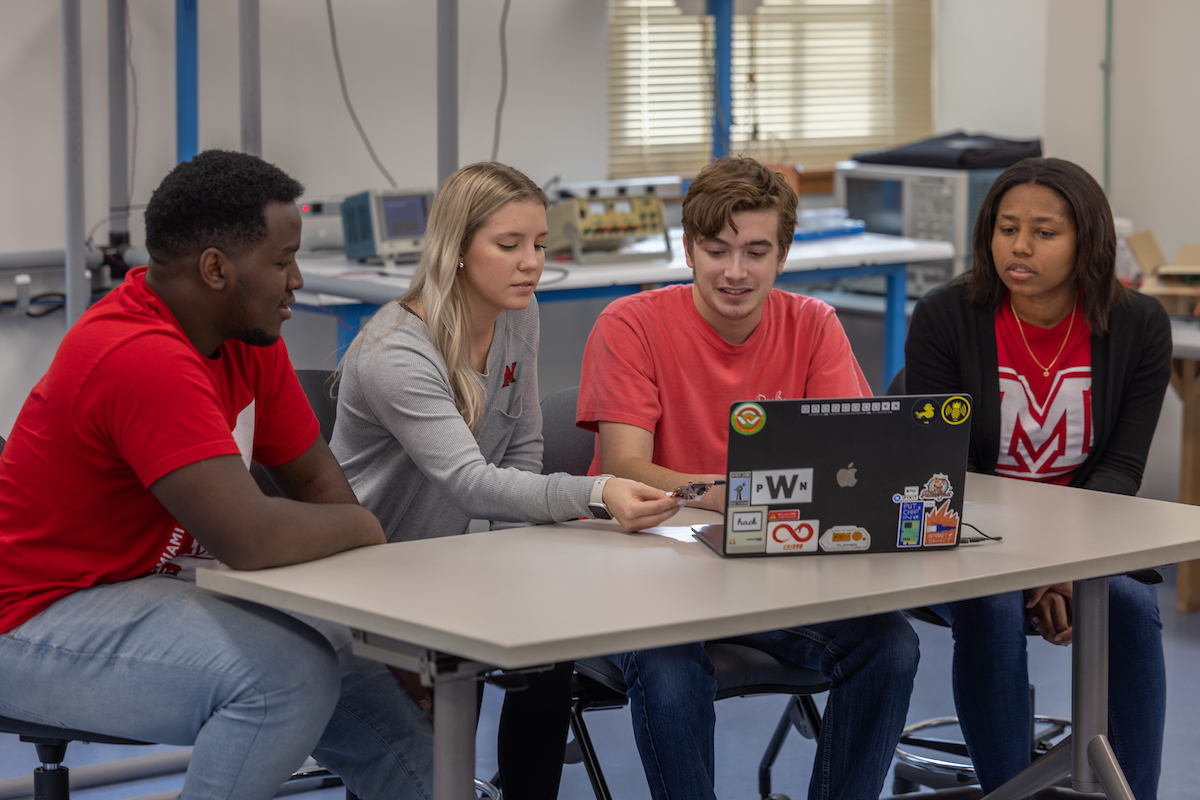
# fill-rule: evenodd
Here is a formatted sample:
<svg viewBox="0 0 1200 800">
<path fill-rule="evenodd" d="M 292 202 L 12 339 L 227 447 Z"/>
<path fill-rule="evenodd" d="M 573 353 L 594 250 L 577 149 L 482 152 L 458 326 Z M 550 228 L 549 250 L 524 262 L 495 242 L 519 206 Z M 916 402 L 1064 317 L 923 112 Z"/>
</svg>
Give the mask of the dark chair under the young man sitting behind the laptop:
<svg viewBox="0 0 1200 800">
<path fill-rule="evenodd" d="M 587 475 L 595 450 L 595 434 L 576 427 L 575 407 L 578 386 L 557 391 L 541 402 L 541 429 L 545 440 L 541 471 Z M 716 668 L 716 699 L 752 694 L 791 694 L 775 732 L 758 763 L 758 794 L 761 798 L 784 798 L 772 794 L 770 768 L 791 728 L 806 739 L 821 732 L 821 714 L 812 694 L 829 688 L 821 673 L 781 661 L 775 656 L 731 642 L 709 642 L 704 645 Z M 625 679 L 620 669 L 607 658 L 581 658 L 575 662 L 571 702 L 571 733 L 575 741 L 568 748 L 566 762 L 583 762 L 596 800 L 612 800 L 608 784 L 596 757 L 592 736 L 583 721 L 583 712 L 593 709 L 624 706 Z"/>
</svg>

